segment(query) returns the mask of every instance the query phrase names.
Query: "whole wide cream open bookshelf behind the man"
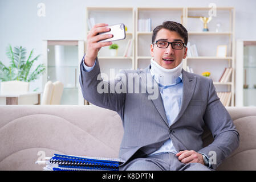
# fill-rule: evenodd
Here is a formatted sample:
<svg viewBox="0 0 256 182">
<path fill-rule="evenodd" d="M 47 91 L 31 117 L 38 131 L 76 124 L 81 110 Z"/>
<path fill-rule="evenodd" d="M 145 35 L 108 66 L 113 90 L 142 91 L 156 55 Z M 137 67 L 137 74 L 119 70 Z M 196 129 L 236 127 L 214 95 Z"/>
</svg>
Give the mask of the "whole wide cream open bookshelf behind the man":
<svg viewBox="0 0 256 182">
<path fill-rule="evenodd" d="M 99 63 L 102 72 L 109 68 L 115 69 L 144 69 L 150 64 L 150 46 L 153 28 L 165 20 L 182 23 L 187 28 L 189 42 L 196 44 L 198 56 L 186 57 L 183 68 L 189 66 L 194 73 L 201 75 L 209 71 L 216 86 L 216 91 L 230 92 L 230 102 L 226 106 L 234 106 L 234 19 L 233 7 L 217 7 L 216 16 L 208 23 L 209 31 L 202 31 L 203 23 L 200 19 L 190 16 L 209 16 L 209 7 L 87 7 L 86 19 L 95 18 L 95 23 L 124 23 L 128 25 L 128 37 L 133 40 L 133 51 L 129 57 L 120 53 L 117 57 L 110 57 L 107 48 L 101 48 Z M 150 20 L 148 20 L 150 19 Z M 217 24 L 218 31 L 216 31 Z M 141 28 L 141 26 L 145 26 Z M 88 27 L 86 22 L 86 34 Z M 125 47 L 124 43 L 117 42 Z M 217 57 L 217 46 L 226 45 L 226 57 Z M 122 52 L 121 50 L 119 52 Z M 226 82 L 219 82 L 225 68 L 233 68 L 230 78 Z M 116 71 L 117 73 L 118 71 Z"/>
</svg>

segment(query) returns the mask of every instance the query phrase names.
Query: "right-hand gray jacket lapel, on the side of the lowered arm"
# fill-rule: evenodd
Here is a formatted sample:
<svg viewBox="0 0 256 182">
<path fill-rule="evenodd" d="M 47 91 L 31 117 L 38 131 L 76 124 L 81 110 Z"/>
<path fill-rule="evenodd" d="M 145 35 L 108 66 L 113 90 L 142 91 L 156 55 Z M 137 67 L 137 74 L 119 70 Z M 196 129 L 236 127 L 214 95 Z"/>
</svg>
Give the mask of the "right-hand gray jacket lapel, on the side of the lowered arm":
<svg viewBox="0 0 256 182">
<path fill-rule="evenodd" d="M 182 77 L 183 77 L 183 97 L 181 102 L 181 109 L 178 113 L 176 119 L 174 119 L 172 125 L 180 119 L 186 107 L 188 107 L 190 100 L 192 99 L 194 89 L 196 88 L 197 77 L 190 76 L 188 72 L 182 69 Z"/>
</svg>

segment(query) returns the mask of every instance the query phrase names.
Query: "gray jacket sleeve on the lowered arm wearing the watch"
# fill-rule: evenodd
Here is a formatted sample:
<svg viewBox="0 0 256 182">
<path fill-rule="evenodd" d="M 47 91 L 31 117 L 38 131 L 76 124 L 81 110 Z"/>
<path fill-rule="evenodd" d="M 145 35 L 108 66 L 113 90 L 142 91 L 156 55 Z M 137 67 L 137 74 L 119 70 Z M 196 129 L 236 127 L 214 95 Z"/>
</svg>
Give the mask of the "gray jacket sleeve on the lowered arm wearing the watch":
<svg viewBox="0 0 256 182">
<path fill-rule="evenodd" d="M 212 79 L 209 83 L 208 105 L 204 114 L 206 126 L 212 132 L 214 141 L 200 151 L 208 156 L 212 168 L 216 169 L 239 145 L 239 133 L 218 98 Z"/>
</svg>

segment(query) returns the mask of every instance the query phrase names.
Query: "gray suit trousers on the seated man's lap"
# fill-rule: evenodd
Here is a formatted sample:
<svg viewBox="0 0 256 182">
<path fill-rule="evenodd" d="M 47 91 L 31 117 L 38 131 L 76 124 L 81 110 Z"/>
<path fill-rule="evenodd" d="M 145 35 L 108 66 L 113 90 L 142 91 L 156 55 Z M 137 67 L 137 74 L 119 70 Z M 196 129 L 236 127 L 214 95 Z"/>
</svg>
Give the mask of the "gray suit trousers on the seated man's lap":
<svg viewBox="0 0 256 182">
<path fill-rule="evenodd" d="M 184 164 L 171 152 L 136 158 L 119 167 L 121 171 L 209 171 L 213 170 L 200 163 Z"/>
</svg>

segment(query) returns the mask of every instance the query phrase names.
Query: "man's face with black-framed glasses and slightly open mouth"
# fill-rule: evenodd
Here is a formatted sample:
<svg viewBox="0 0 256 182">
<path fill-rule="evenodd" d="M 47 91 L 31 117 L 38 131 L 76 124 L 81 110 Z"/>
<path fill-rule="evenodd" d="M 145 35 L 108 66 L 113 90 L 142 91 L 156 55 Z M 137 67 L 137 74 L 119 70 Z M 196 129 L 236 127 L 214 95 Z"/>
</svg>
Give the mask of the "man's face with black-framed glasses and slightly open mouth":
<svg viewBox="0 0 256 182">
<path fill-rule="evenodd" d="M 157 40 L 166 40 L 168 42 L 182 42 L 184 39 L 174 31 L 169 31 L 165 28 L 162 28 L 157 32 L 155 42 Z M 151 44 L 151 56 L 154 57 L 154 60 L 161 65 L 161 67 L 166 69 L 176 68 L 182 61 L 186 58 L 186 51 L 188 48 L 183 47 L 182 49 L 173 49 L 169 44 L 167 48 L 159 48 L 156 44 Z"/>
</svg>

